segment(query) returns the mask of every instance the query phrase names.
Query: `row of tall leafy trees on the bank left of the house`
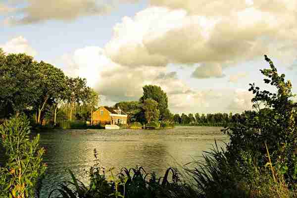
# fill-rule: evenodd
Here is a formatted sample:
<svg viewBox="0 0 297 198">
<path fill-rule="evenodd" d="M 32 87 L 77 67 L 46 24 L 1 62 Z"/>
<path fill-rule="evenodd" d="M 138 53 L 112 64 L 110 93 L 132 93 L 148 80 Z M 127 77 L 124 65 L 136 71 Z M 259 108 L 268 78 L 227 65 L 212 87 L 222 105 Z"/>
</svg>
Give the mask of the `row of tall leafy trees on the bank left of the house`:
<svg viewBox="0 0 297 198">
<path fill-rule="evenodd" d="M 45 118 L 57 122 L 76 120 L 85 112 L 92 114 L 99 95 L 87 86 L 87 80 L 68 77 L 63 71 L 44 61 L 36 61 L 24 53 L 5 54 L 0 49 L 0 119 L 25 113 L 42 124 Z"/>
</svg>

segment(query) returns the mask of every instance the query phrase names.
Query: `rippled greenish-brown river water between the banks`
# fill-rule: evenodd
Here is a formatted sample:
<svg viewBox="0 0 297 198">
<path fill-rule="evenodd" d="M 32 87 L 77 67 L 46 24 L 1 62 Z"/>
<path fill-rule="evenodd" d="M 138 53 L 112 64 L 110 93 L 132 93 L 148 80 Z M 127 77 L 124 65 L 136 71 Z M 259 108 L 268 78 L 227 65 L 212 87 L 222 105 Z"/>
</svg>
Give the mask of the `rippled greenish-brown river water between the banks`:
<svg viewBox="0 0 297 198">
<path fill-rule="evenodd" d="M 94 164 L 94 149 L 100 165 L 107 168 L 142 166 L 147 172 L 162 176 L 168 167 L 180 167 L 202 157 L 217 140 L 220 147 L 228 137 L 220 127 L 177 126 L 168 130 L 54 130 L 40 134 L 41 146 L 47 152 L 48 164 L 43 181 L 42 198 L 48 197 L 52 186 L 70 178 L 71 169 L 87 182 L 84 169 Z M 117 171 L 114 171 L 117 172 Z"/>
</svg>

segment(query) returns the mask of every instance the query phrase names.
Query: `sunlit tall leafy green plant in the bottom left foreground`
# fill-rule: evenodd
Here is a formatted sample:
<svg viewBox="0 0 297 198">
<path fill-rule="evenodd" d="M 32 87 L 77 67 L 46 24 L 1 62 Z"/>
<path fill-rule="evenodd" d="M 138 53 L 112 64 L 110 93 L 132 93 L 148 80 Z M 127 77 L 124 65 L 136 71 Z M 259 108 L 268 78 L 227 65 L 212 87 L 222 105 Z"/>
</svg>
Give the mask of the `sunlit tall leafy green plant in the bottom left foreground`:
<svg viewBox="0 0 297 198">
<path fill-rule="evenodd" d="M 12 117 L 0 126 L 2 146 L 8 156 L 0 167 L 0 197 L 25 198 L 33 196 L 39 178 L 46 170 L 42 162 L 44 148 L 39 148 L 39 135 L 29 139 L 29 120 Z"/>
</svg>

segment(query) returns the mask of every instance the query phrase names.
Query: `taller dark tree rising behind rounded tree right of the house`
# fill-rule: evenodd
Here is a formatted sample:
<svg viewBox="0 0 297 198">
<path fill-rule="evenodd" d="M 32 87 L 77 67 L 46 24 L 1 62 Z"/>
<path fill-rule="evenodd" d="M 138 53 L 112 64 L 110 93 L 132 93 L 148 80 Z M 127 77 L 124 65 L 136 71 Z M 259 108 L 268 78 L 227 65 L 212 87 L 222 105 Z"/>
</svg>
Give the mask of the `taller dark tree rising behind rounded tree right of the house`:
<svg viewBox="0 0 297 198">
<path fill-rule="evenodd" d="M 146 99 L 153 99 L 158 103 L 157 109 L 160 111 L 160 119 L 166 117 L 168 112 L 168 98 L 166 93 L 158 86 L 146 85 L 143 87 L 143 96 L 140 102 L 144 103 Z"/>
</svg>

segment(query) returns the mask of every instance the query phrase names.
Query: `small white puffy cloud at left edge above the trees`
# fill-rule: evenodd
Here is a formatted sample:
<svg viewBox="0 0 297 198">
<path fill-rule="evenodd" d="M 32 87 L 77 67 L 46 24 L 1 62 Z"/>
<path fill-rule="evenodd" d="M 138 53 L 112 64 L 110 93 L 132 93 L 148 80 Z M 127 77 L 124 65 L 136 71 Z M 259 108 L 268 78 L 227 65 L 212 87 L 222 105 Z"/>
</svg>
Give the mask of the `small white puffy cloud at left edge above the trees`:
<svg viewBox="0 0 297 198">
<path fill-rule="evenodd" d="M 33 49 L 29 42 L 22 36 L 11 39 L 3 45 L 0 45 L 0 48 L 6 53 L 27 53 L 28 55 L 35 56 L 37 51 Z"/>
</svg>

